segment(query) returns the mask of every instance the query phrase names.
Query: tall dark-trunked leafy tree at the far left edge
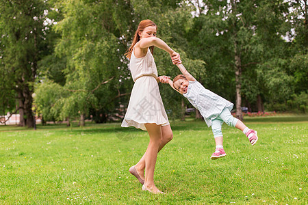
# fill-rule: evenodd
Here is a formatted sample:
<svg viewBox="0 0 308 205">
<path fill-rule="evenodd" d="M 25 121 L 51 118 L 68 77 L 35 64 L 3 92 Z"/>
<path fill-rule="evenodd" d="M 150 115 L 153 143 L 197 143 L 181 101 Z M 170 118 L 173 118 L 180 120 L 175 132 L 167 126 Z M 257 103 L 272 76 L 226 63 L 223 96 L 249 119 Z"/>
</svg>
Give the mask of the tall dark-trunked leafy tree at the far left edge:
<svg viewBox="0 0 308 205">
<path fill-rule="evenodd" d="M 34 126 L 32 93 L 49 33 L 46 6 L 40 0 L 0 3 L 1 66 L 8 74 L 8 89 L 17 94 L 21 126 Z"/>
</svg>

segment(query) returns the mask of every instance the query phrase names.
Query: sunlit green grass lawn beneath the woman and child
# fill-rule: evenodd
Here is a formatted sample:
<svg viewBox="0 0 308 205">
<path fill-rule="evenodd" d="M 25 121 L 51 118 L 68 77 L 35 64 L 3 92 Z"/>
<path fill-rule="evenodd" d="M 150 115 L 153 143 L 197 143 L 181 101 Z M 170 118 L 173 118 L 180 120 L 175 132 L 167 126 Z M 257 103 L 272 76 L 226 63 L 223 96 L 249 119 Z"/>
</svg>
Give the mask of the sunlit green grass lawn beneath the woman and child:
<svg viewBox="0 0 308 205">
<path fill-rule="evenodd" d="M 155 183 L 129 174 L 149 137 L 120 124 L 0 126 L 0 204 L 307 204 L 308 116 L 245 118 L 255 146 L 224 124 L 227 156 L 211 161 L 205 122 L 171 122 L 174 139 L 157 156 Z"/>
</svg>

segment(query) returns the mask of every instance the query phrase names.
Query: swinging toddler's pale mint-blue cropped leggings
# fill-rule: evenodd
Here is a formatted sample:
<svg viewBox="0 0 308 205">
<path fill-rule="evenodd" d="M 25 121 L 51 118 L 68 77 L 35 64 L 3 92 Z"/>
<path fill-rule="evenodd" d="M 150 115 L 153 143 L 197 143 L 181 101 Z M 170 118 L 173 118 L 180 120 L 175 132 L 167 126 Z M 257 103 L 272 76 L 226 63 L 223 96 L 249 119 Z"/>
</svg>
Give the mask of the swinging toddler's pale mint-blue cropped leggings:
<svg viewBox="0 0 308 205">
<path fill-rule="evenodd" d="M 211 120 L 211 130 L 213 131 L 214 138 L 222 137 L 221 126 L 224 122 L 226 122 L 226 124 L 229 126 L 235 126 L 235 124 L 238 122 L 238 119 L 231 115 L 229 109 L 224 108 L 217 118 Z"/>
</svg>

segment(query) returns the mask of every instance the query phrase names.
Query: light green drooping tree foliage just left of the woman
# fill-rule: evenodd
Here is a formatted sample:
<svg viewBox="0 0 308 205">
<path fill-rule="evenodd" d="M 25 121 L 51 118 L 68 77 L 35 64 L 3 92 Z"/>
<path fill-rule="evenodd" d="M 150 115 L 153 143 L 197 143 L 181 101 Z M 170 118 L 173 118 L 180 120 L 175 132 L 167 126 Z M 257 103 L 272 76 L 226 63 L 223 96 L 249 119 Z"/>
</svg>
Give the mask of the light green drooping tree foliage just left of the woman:
<svg viewBox="0 0 308 205">
<path fill-rule="evenodd" d="M 61 38 L 54 58 L 44 60 L 58 59 L 57 68 L 63 69 L 57 70 L 52 64 L 49 68 L 62 73 L 62 79 L 47 73 L 45 77 L 53 81 L 43 81 L 41 86 L 62 85 L 63 94 L 55 104 L 49 104 L 49 111 L 53 111 L 56 120 L 81 118 L 82 125 L 92 111 L 105 116 L 114 107 L 114 100 L 123 95 L 120 81 L 129 73 L 123 69 L 127 60 L 123 56 L 126 46 L 122 32 L 129 29 L 123 11 L 129 5 L 114 1 L 59 1 L 55 8 L 63 15 L 55 26 Z"/>
</svg>

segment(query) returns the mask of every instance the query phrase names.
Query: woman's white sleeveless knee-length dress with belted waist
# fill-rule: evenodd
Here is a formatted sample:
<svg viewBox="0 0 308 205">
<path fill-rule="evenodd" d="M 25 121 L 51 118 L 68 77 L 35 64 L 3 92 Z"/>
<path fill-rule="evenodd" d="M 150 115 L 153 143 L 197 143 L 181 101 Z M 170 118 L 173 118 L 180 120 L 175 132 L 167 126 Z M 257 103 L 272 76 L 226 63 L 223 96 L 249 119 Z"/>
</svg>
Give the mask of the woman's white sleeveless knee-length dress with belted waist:
<svg viewBox="0 0 308 205">
<path fill-rule="evenodd" d="M 157 68 L 150 49 L 140 58 L 132 52 L 129 68 L 135 83 L 121 126 L 134 126 L 146 131 L 146 123 L 162 126 L 170 124 L 159 93 Z"/>
</svg>

